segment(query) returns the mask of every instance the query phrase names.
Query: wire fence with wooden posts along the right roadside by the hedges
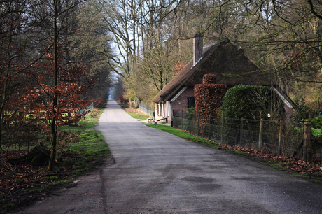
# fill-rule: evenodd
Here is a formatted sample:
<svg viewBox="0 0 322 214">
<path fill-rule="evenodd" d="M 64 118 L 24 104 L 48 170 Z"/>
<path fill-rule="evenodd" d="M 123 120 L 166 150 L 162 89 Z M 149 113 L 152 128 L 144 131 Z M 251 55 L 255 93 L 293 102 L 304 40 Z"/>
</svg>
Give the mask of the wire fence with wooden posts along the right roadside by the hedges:
<svg viewBox="0 0 322 214">
<path fill-rule="evenodd" d="M 288 157 L 306 158 L 305 125 L 271 120 L 246 120 L 174 112 L 174 127 L 217 143 L 236 145 Z M 322 147 L 311 145 L 311 157 L 322 159 Z"/>
</svg>

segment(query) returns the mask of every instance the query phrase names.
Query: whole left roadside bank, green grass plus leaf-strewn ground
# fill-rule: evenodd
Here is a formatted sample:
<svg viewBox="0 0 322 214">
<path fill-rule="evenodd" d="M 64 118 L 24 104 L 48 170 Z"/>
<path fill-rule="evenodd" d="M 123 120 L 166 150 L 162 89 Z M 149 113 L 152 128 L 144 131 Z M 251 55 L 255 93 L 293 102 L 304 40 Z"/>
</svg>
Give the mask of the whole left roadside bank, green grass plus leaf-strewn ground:
<svg viewBox="0 0 322 214">
<path fill-rule="evenodd" d="M 94 129 L 103 110 L 94 108 L 77 125 L 61 127 L 55 171 L 31 164 L 12 166 L 1 153 L 0 213 L 33 204 L 102 164 L 111 155 L 102 134 Z"/>
</svg>

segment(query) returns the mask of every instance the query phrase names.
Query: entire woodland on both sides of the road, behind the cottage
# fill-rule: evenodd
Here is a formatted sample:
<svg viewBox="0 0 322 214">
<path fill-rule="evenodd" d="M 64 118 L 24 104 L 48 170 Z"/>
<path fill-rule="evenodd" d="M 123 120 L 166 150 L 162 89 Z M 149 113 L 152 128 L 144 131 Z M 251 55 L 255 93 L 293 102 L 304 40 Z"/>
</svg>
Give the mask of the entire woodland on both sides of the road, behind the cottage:
<svg viewBox="0 0 322 214">
<path fill-rule="evenodd" d="M 49 136 L 90 104 L 151 99 L 204 44 L 228 40 L 306 111 L 321 110 L 319 0 L 13 0 L 0 9 L 0 149 Z M 250 75 L 244 73 L 243 75 Z"/>
</svg>

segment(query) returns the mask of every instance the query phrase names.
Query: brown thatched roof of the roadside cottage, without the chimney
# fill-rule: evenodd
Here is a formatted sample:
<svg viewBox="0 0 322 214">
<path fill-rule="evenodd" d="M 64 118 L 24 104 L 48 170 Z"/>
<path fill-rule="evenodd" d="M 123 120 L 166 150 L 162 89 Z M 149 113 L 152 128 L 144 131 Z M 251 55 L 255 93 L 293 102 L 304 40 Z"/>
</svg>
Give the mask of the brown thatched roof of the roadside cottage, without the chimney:
<svg viewBox="0 0 322 214">
<path fill-rule="evenodd" d="M 204 47 L 203 57 L 193 66 L 193 59 L 152 99 L 158 103 L 169 101 L 182 87 L 202 83 L 204 74 L 214 73 L 217 83 L 233 85 L 272 85 L 267 76 L 243 51 L 228 41 L 220 41 Z"/>
</svg>

